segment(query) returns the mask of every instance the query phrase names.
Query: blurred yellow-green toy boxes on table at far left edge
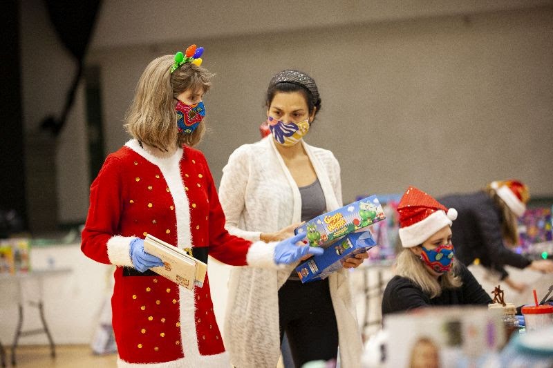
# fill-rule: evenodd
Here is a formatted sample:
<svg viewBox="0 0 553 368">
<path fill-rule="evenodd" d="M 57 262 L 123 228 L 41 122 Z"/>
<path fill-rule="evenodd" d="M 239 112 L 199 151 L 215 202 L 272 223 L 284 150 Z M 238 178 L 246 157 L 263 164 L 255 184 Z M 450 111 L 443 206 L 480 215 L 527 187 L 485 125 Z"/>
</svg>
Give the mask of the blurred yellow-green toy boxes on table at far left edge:
<svg viewBox="0 0 553 368">
<path fill-rule="evenodd" d="M 28 272 L 30 241 L 28 238 L 0 240 L 0 273 Z"/>
</svg>

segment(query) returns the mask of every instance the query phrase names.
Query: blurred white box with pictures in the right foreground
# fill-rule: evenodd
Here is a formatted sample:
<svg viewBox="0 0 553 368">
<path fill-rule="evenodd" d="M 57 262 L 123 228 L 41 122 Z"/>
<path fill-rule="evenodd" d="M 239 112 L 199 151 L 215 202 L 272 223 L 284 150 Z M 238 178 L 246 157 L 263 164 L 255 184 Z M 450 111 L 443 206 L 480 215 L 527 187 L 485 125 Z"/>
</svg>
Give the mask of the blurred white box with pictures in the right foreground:
<svg viewBox="0 0 553 368">
<path fill-rule="evenodd" d="M 421 360 L 424 367 L 510 367 L 487 359 L 505 345 L 505 329 L 500 311 L 481 305 L 387 314 L 383 338 L 379 346 L 366 347 L 365 354 L 372 352 L 371 360 L 377 362 L 366 361 L 366 367 L 419 367 Z M 520 367 L 534 365 L 522 363 Z"/>
</svg>

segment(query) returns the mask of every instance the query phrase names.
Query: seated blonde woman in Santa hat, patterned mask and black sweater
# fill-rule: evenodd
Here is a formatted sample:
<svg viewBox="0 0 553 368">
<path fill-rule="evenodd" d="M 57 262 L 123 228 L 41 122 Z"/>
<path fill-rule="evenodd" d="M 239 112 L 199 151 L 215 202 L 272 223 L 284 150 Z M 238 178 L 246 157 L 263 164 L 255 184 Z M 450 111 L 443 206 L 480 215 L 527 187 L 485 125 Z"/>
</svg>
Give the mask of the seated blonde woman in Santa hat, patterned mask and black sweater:
<svg viewBox="0 0 553 368">
<path fill-rule="evenodd" d="M 382 315 L 419 307 L 491 303 L 464 264 L 454 257 L 451 224 L 455 209 L 410 186 L 400 200 L 400 240 L 396 275 L 382 297 Z"/>
</svg>

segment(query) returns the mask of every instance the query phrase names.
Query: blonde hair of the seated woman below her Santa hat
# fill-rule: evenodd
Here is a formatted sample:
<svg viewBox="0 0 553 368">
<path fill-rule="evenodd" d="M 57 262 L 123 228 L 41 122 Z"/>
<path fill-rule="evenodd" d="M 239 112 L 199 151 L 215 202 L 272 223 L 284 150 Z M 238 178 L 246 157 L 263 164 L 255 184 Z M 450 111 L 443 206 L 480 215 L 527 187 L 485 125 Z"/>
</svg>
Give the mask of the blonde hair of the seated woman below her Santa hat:
<svg viewBox="0 0 553 368">
<path fill-rule="evenodd" d="M 453 260 L 451 269 L 442 275 L 440 281 L 429 273 L 418 255 L 409 248 L 405 248 L 397 255 L 395 273 L 404 278 L 409 278 L 417 284 L 424 293 L 435 298 L 443 289 L 456 289 L 461 287 L 462 281 L 459 273 L 458 260 Z"/>
</svg>

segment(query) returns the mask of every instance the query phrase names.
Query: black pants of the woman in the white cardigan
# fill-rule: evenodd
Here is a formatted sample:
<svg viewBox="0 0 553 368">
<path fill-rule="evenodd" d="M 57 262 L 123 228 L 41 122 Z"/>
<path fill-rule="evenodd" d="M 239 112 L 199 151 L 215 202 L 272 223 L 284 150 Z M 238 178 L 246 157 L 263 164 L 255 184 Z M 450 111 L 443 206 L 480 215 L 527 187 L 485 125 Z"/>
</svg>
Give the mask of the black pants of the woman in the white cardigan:
<svg viewBox="0 0 553 368">
<path fill-rule="evenodd" d="M 288 280 L 279 289 L 281 342 L 286 333 L 294 365 L 336 359 L 338 327 L 328 278 L 302 284 Z"/>
</svg>

